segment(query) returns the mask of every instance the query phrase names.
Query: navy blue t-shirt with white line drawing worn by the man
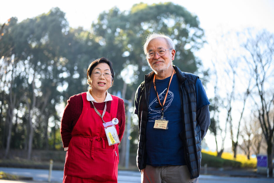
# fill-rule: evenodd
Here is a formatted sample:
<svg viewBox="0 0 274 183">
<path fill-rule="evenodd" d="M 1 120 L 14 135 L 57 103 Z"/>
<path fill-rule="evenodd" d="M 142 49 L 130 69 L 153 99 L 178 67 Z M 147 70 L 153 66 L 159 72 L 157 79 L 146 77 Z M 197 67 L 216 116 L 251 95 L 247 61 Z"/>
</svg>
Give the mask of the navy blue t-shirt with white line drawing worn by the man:
<svg viewBox="0 0 274 183">
<path fill-rule="evenodd" d="M 156 89 L 163 104 L 170 77 L 155 79 Z M 160 119 L 162 107 L 159 105 L 154 87 L 150 89 L 148 102 L 148 122 L 146 127 L 147 164 L 152 166 L 185 165 L 183 142 L 180 132 L 183 129 L 179 81 L 176 74 L 170 83 L 168 96 L 164 105 L 164 119 L 168 120 L 168 129 L 154 129 L 155 119 Z M 195 84 L 197 109 L 209 104 L 202 83 Z M 160 107 L 159 107 L 160 106 Z"/>
</svg>

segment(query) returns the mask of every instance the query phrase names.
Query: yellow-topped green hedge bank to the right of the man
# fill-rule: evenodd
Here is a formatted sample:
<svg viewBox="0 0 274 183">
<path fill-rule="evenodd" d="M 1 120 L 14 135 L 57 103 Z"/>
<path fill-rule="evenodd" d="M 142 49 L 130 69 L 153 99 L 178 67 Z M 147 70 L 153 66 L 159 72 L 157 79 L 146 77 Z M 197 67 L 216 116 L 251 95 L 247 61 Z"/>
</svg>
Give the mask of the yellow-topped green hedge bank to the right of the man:
<svg viewBox="0 0 274 183">
<path fill-rule="evenodd" d="M 204 164 L 209 167 L 256 168 L 257 159 L 247 159 L 243 154 L 237 154 L 234 158 L 233 153 L 228 152 L 224 152 L 220 158 L 217 157 L 217 152 L 202 149 L 202 166 Z"/>
</svg>

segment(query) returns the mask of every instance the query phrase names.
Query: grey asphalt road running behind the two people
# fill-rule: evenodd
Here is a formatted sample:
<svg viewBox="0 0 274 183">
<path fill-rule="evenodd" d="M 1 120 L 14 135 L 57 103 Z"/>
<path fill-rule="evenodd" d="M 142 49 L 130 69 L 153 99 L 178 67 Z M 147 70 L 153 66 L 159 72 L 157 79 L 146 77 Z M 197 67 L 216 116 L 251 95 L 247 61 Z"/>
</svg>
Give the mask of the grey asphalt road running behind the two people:
<svg viewBox="0 0 274 183">
<path fill-rule="evenodd" d="M 33 177 L 33 181 L 5 181 L 0 180 L 0 183 L 42 183 L 48 182 L 48 170 L 43 169 L 21 169 L 21 168 L 6 168 L 0 167 L 0 171 L 16 174 L 26 177 Z M 51 182 L 62 182 L 63 171 L 53 170 Z M 132 171 L 118 171 L 118 183 L 140 183 L 141 174 Z M 200 183 L 273 183 L 273 178 L 248 178 L 248 177 L 222 177 L 213 175 L 200 175 Z"/>
</svg>

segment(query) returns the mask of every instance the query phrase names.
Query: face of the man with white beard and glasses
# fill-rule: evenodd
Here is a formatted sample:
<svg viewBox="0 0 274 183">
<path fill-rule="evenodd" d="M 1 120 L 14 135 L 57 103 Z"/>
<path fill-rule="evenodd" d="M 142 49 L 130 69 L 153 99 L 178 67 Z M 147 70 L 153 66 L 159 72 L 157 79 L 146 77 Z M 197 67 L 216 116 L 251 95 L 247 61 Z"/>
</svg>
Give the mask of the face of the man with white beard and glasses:
<svg viewBox="0 0 274 183">
<path fill-rule="evenodd" d="M 156 52 L 159 49 L 170 49 L 164 38 L 155 38 L 148 43 L 147 51 Z M 172 67 L 172 60 L 174 60 L 175 50 L 167 50 L 163 56 L 158 56 L 155 53 L 153 58 L 148 59 L 148 64 L 156 74 L 164 72 L 169 67 Z"/>
</svg>

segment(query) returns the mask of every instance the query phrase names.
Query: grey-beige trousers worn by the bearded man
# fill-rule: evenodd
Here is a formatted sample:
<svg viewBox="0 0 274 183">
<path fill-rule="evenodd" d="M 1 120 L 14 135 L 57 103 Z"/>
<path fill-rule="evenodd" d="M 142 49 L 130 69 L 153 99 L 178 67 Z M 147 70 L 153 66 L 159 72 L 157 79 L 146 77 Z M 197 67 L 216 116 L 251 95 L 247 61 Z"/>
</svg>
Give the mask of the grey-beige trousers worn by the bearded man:
<svg viewBox="0 0 274 183">
<path fill-rule="evenodd" d="M 199 183 L 199 179 L 190 179 L 186 165 L 153 167 L 146 165 L 141 170 L 142 183 Z"/>
</svg>

